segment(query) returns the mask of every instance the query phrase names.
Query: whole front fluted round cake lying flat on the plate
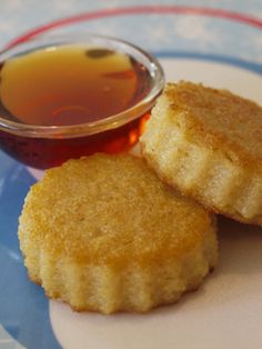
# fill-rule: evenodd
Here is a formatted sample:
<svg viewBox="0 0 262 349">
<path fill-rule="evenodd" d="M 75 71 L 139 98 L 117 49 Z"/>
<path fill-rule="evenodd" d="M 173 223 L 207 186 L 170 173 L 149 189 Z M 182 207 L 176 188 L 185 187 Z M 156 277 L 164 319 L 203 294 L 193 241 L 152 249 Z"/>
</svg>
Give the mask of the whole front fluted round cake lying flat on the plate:
<svg viewBox="0 0 262 349">
<path fill-rule="evenodd" d="M 50 169 L 19 223 L 32 281 L 78 311 L 144 312 L 198 288 L 218 259 L 215 220 L 131 154 Z"/>
</svg>

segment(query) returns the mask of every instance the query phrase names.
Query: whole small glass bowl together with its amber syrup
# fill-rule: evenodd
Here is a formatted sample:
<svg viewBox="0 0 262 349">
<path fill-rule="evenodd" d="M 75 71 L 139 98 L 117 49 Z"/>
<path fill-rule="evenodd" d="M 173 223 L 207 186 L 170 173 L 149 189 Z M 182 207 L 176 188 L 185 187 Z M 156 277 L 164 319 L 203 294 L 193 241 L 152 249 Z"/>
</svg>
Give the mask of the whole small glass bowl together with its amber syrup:
<svg viewBox="0 0 262 349">
<path fill-rule="evenodd" d="M 37 38 L 0 62 L 0 147 L 40 169 L 131 148 L 164 84 L 153 56 L 94 34 Z"/>
</svg>

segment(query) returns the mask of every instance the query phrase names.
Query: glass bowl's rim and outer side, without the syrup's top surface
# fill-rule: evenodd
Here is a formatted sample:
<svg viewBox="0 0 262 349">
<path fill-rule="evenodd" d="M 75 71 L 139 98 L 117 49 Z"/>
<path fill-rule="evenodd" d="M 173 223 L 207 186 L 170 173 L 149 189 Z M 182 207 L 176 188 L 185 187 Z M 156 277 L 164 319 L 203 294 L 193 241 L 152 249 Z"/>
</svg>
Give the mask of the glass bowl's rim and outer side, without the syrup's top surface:
<svg viewBox="0 0 262 349">
<path fill-rule="evenodd" d="M 75 124 L 36 124 L 7 117 L 0 108 L 0 148 L 17 160 L 39 169 L 58 166 L 70 158 L 98 151 L 119 152 L 131 148 L 143 131 L 144 122 L 164 86 L 163 70 L 158 60 L 141 48 L 117 38 L 90 34 L 66 33 L 41 36 L 26 43 L 14 46 L 0 53 L 0 97 L 2 67 L 13 58 L 20 58 L 37 50 L 56 50 L 66 46 L 101 48 L 127 54 L 149 72 L 150 88 L 142 99 L 125 110 L 88 122 Z M 3 77 L 4 78 L 4 77 Z M 141 96 L 142 96 L 141 94 Z M 16 99 L 16 96 L 12 97 Z"/>
</svg>

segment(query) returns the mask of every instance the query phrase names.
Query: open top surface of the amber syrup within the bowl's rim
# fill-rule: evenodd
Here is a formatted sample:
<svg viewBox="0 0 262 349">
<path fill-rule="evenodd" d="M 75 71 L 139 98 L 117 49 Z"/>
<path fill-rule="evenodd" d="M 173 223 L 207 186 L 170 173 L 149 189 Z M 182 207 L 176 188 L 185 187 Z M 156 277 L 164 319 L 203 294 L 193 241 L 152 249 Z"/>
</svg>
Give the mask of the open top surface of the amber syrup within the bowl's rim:
<svg viewBox="0 0 262 349">
<path fill-rule="evenodd" d="M 97 121 L 124 111 L 148 94 L 148 69 L 123 52 L 64 46 L 3 62 L 0 110 L 38 126 Z"/>
</svg>

